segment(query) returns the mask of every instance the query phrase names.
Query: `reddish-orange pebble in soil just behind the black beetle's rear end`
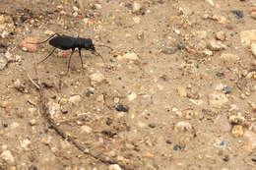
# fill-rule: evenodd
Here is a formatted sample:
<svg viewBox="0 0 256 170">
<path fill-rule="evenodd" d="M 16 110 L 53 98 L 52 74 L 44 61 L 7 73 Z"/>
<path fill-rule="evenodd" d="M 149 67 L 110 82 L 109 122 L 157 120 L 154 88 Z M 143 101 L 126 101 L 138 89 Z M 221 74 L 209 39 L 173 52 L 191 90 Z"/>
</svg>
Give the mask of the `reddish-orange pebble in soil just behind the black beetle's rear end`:
<svg viewBox="0 0 256 170">
<path fill-rule="evenodd" d="M 37 51 L 37 44 L 32 44 L 32 43 L 37 43 L 36 39 L 32 37 L 26 37 L 19 43 L 19 47 L 23 51 L 28 51 L 28 52 L 36 52 Z"/>
</svg>

